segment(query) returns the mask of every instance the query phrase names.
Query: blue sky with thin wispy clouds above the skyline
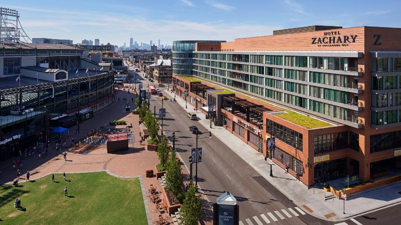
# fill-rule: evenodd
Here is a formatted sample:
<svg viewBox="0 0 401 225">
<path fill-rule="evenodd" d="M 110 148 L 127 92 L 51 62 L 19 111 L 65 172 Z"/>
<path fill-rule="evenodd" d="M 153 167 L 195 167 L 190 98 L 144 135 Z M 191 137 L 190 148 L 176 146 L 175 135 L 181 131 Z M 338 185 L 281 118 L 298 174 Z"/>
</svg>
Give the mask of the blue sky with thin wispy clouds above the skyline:
<svg viewBox="0 0 401 225">
<path fill-rule="evenodd" d="M 305 25 L 401 27 L 398 0 L 3 0 L 32 37 L 129 44 L 270 35 Z"/>
</svg>

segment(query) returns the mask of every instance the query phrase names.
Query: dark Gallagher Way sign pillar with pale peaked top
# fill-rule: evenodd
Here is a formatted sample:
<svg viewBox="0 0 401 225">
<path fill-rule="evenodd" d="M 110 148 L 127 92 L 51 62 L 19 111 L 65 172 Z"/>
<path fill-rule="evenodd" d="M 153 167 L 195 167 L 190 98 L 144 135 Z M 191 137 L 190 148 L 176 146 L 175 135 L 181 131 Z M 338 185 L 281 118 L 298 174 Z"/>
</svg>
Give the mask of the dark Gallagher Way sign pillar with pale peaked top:
<svg viewBox="0 0 401 225">
<path fill-rule="evenodd" d="M 230 192 L 225 192 L 213 203 L 213 224 L 238 225 L 240 210 L 237 199 Z"/>
</svg>

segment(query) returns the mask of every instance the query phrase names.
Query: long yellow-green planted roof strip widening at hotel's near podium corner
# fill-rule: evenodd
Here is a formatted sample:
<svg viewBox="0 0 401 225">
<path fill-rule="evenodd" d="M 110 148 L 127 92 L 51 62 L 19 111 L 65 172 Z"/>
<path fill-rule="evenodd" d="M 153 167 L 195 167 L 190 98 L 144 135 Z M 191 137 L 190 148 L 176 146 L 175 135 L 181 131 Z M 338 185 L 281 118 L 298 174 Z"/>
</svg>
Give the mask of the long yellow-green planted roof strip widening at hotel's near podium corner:
<svg viewBox="0 0 401 225">
<path fill-rule="evenodd" d="M 205 82 L 208 82 L 208 81 L 205 81 Z M 214 85 L 217 85 L 217 84 L 214 84 Z M 263 104 L 271 105 L 273 107 L 282 109 L 283 111 L 285 111 L 287 113 L 279 113 L 279 114 L 274 114 L 274 115 L 276 115 L 276 116 L 278 116 L 278 117 L 280 117 L 282 119 L 285 119 L 285 120 L 287 120 L 289 122 L 292 122 L 292 123 L 295 123 L 295 124 L 300 125 L 302 127 L 305 127 L 307 129 L 313 129 L 313 128 L 319 128 L 319 127 L 325 127 L 325 126 L 332 126 L 332 124 L 330 124 L 328 122 L 325 122 L 325 121 L 322 121 L 320 119 L 316 119 L 316 118 L 313 118 L 311 116 L 307 116 L 307 115 L 295 112 L 295 111 L 290 110 L 290 109 L 286 109 L 286 108 L 282 108 L 280 106 L 273 105 L 273 104 L 271 104 L 271 103 L 269 103 L 269 102 L 267 102 L 265 100 L 261 100 L 261 99 L 258 99 L 258 98 L 255 98 L 255 97 L 252 97 L 252 96 L 249 96 L 249 95 L 245 95 L 245 94 L 237 92 L 237 91 L 224 89 L 224 91 L 222 91 L 222 92 L 226 93 L 225 92 L 226 90 L 227 91 L 231 91 L 230 93 L 236 93 L 236 94 L 239 94 L 239 95 L 244 96 L 244 97 L 250 97 L 250 98 L 252 98 L 252 99 L 254 99 L 256 101 L 259 101 L 259 102 L 261 102 Z M 216 92 L 216 93 L 219 93 L 219 92 Z"/>
</svg>

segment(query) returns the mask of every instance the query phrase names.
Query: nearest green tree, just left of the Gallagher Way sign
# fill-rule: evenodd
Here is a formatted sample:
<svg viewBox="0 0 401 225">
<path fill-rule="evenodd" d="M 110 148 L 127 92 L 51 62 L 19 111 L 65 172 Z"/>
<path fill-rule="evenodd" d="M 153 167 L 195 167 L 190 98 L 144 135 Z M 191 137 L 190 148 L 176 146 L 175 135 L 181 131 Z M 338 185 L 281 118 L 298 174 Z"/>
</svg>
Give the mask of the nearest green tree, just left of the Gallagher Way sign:
<svg viewBox="0 0 401 225">
<path fill-rule="evenodd" d="M 195 186 L 190 181 L 186 191 L 184 202 L 181 206 L 181 223 L 185 225 L 197 225 L 202 211 L 202 199 L 195 194 Z"/>
</svg>

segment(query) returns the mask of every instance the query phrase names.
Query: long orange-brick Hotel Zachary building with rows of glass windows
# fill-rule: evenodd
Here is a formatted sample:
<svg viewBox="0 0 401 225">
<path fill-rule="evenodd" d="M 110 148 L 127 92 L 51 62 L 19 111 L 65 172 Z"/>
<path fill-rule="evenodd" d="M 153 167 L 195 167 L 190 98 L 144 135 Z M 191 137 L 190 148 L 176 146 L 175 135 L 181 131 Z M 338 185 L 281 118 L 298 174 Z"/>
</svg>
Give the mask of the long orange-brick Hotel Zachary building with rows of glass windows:
<svg viewBox="0 0 401 225">
<path fill-rule="evenodd" d="M 401 28 L 315 25 L 174 41 L 173 86 L 306 185 L 359 191 L 399 179 L 400 36 Z"/>
</svg>

